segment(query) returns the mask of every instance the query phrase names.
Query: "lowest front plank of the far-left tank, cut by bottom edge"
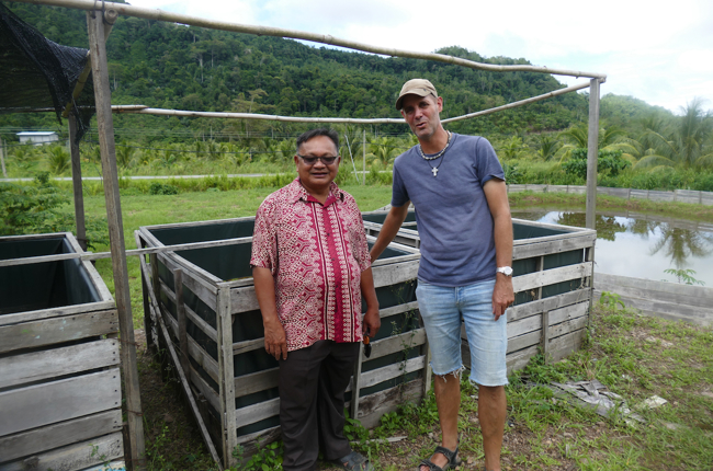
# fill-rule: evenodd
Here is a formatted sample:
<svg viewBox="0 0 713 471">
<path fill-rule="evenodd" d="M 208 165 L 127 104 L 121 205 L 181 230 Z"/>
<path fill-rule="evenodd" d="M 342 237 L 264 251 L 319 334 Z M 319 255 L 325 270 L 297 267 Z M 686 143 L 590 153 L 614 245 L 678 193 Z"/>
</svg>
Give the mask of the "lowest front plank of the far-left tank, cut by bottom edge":
<svg viewBox="0 0 713 471">
<path fill-rule="evenodd" d="M 122 433 L 104 435 L 59 449 L 0 464 L 2 471 L 86 470 L 124 457 Z"/>
</svg>

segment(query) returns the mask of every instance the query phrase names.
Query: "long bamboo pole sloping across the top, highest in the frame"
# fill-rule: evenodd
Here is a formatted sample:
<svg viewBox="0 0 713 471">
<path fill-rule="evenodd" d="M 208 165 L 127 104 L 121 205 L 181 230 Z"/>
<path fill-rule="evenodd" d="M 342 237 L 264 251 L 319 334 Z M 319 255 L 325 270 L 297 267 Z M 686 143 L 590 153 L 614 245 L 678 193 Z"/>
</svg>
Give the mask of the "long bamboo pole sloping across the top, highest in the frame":
<svg viewBox="0 0 713 471">
<path fill-rule="evenodd" d="M 97 2 L 94 0 L 15 0 L 24 3 L 50 4 L 56 7 L 73 8 L 79 10 L 93 10 Z M 346 47 L 365 53 L 380 54 L 382 56 L 409 57 L 412 59 L 434 60 L 438 62 L 452 64 L 455 66 L 467 67 L 476 70 L 488 70 L 491 72 L 539 72 L 555 76 L 586 77 L 606 79 L 604 73 L 585 72 L 580 70 L 550 69 L 541 66 L 498 66 L 493 64 L 476 62 L 460 57 L 448 56 L 445 54 L 419 53 L 414 50 L 403 50 L 388 47 L 380 47 L 359 43 L 355 41 L 341 39 L 329 34 L 316 34 L 296 30 L 284 30 L 270 26 L 254 26 L 247 24 L 229 23 L 226 21 L 214 21 L 191 16 L 188 14 L 172 13 L 157 9 L 134 7 L 128 3 L 102 2 L 107 10 L 116 10 L 118 14 L 126 16 L 143 18 L 145 20 L 168 21 L 172 23 L 186 24 L 190 26 L 207 27 L 211 30 L 230 31 L 235 33 L 248 33 L 258 36 L 276 36 L 290 37 L 293 39 L 305 39 L 313 43 L 328 44 L 332 46 Z"/>
</svg>

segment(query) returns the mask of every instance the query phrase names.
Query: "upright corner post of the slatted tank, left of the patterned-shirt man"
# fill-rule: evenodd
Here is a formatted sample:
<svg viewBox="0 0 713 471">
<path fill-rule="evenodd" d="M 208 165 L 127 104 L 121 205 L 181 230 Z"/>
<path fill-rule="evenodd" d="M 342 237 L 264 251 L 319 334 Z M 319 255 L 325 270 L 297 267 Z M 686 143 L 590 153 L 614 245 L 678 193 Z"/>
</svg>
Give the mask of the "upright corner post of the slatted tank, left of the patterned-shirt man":
<svg viewBox="0 0 713 471">
<path fill-rule="evenodd" d="M 235 416 L 235 369 L 233 366 L 233 314 L 230 287 L 218 287 L 218 379 L 220 417 L 223 422 L 223 463 L 225 468 L 237 464 L 233 450 L 238 445 L 238 429 Z"/>
</svg>

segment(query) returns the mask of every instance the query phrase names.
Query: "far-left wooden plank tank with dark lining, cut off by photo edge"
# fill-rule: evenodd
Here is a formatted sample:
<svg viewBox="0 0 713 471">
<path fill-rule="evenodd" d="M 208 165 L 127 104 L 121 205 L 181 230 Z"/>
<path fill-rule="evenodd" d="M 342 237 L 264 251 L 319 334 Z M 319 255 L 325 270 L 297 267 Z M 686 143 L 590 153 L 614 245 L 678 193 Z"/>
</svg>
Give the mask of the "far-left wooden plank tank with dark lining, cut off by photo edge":
<svg viewBox="0 0 713 471">
<path fill-rule="evenodd" d="M 0 470 L 124 458 L 114 300 L 71 233 L 0 238 Z"/>
</svg>

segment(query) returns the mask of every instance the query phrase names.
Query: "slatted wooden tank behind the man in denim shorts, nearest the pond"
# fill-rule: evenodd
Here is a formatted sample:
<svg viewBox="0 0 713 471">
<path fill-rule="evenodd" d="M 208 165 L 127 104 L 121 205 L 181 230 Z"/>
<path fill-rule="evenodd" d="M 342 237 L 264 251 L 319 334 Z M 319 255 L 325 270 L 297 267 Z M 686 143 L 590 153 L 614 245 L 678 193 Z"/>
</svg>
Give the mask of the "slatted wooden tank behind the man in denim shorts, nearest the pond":
<svg viewBox="0 0 713 471">
<path fill-rule="evenodd" d="M 377 236 L 386 211 L 364 214 L 366 233 Z M 412 211 L 396 241 L 418 248 Z M 585 337 L 592 299 L 597 231 L 568 226 L 512 220 L 512 285 L 514 305 L 508 309 L 508 374 L 542 352 L 557 360 L 576 351 Z M 463 330 L 463 363 L 471 354 Z"/>
</svg>

